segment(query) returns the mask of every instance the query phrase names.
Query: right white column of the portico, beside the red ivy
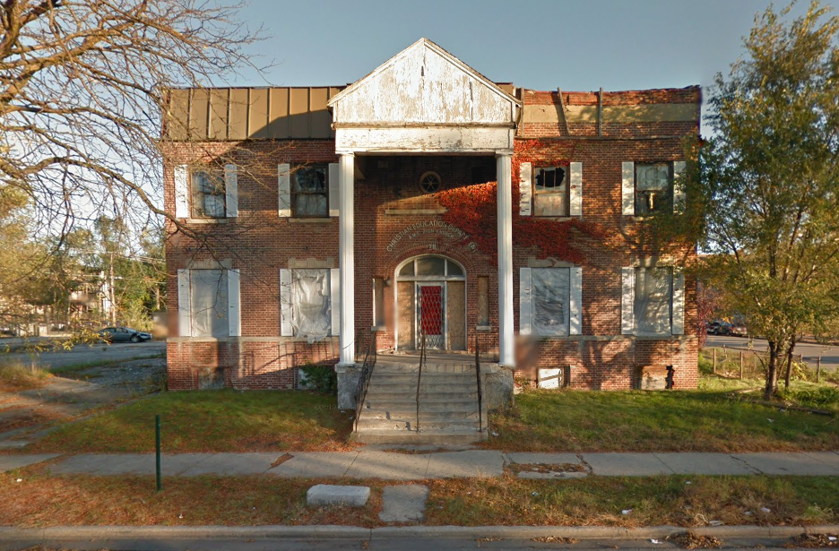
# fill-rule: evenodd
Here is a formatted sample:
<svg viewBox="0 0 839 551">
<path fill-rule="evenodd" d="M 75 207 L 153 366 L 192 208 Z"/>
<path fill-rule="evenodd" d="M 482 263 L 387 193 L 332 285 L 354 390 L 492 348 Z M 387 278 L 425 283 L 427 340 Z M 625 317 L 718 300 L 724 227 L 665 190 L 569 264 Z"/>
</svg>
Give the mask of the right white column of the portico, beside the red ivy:
<svg viewBox="0 0 839 551">
<path fill-rule="evenodd" d="M 510 154 L 496 157 L 498 180 L 498 364 L 515 367 L 513 339 L 513 181 Z"/>
</svg>

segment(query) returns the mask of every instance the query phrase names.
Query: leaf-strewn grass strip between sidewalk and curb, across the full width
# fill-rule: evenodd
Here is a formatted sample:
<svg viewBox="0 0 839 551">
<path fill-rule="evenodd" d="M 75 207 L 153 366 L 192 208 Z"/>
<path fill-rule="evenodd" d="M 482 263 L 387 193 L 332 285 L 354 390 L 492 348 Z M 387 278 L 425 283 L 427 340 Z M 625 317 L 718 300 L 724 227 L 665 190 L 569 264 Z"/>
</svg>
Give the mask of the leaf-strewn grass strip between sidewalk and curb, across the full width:
<svg viewBox="0 0 839 551">
<path fill-rule="evenodd" d="M 43 467 L 0 475 L 0 525 L 345 524 L 376 527 L 388 482 L 272 477 L 50 477 Z M 21 478 L 21 482 L 17 479 Z M 688 484 L 690 482 L 690 484 Z M 367 506 L 307 507 L 315 484 L 370 486 Z M 371 484 L 372 483 L 372 484 Z M 705 526 L 839 521 L 839 477 L 590 477 L 425 480 L 426 524 Z M 394 482 L 394 484 L 405 484 Z M 768 512 L 762 510 L 768 509 Z M 622 514 L 624 510 L 631 510 Z M 748 514 L 750 513 L 750 514 Z"/>
</svg>

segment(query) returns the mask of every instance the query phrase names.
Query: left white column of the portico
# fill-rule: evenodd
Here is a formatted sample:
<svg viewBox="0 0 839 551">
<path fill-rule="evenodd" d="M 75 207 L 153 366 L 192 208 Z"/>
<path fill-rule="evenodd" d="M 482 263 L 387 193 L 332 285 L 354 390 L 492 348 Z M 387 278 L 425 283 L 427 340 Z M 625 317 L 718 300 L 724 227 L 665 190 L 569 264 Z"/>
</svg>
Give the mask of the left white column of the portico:
<svg viewBox="0 0 839 551">
<path fill-rule="evenodd" d="M 355 364 L 355 254 L 353 249 L 353 185 L 355 157 L 339 160 L 338 174 L 338 257 L 341 268 L 341 357 L 339 365 Z"/>
</svg>

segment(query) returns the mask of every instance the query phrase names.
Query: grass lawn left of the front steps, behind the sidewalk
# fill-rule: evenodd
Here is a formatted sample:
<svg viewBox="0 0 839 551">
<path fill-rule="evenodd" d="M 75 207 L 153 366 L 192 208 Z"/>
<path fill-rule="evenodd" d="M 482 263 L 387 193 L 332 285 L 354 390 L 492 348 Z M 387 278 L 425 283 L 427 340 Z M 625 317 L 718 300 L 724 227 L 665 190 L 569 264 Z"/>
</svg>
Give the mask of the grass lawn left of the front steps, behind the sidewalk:
<svg viewBox="0 0 839 551">
<path fill-rule="evenodd" d="M 353 413 L 312 392 L 163 392 L 62 426 L 27 452 L 154 452 L 157 414 L 167 453 L 341 451 Z"/>
</svg>

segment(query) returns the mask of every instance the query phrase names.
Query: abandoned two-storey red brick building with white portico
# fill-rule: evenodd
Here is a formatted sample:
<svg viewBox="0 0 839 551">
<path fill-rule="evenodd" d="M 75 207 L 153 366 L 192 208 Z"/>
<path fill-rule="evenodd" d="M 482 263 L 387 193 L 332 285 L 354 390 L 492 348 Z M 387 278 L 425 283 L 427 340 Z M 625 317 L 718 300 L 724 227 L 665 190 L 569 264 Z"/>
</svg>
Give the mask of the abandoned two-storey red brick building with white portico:
<svg viewBox="0 0 839 551">
<path fill-rule="evenodd" d="M 410 363 L 421 336 L 504 388 L 694 387 L 694 251 L 637 237 L 679 215 L 700 101 L 491 82 L 426 39 L 345 87 L 172 90 L 169 388 L 318 363 L 350 407 L 368 343 Z"/>
</svg>

